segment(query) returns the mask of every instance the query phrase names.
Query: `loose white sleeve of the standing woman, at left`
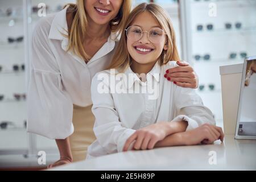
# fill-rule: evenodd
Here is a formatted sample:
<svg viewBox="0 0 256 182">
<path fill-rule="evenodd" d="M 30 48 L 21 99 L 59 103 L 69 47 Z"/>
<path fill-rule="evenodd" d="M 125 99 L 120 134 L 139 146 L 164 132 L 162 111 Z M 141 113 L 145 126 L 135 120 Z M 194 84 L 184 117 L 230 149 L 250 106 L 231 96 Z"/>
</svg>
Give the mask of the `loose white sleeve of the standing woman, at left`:
<svg viewBox="0 0 256 182">
<path fill-rule="evenodd" d="M 27 131 L 50 139 L 65 139 L 73 133 L 73 104 L 62 86 L 43 23 L 35 27 L 32 36 Z"/>
</svg>

